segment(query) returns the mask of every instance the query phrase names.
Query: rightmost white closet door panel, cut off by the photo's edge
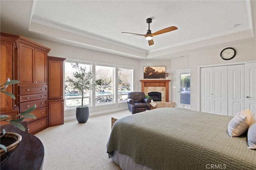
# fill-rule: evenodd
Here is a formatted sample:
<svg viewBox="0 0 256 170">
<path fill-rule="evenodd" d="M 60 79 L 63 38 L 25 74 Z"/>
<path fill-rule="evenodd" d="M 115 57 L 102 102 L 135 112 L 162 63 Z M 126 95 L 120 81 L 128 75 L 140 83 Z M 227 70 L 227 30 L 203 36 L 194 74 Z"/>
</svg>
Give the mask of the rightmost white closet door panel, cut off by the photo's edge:
<svg viewBox="0 0 256 170">
<path fill-rule="evenodd" d="M 256 113 L 256 63 L 245 64 L 244 76 L 244 109 Z"/>
</svg>

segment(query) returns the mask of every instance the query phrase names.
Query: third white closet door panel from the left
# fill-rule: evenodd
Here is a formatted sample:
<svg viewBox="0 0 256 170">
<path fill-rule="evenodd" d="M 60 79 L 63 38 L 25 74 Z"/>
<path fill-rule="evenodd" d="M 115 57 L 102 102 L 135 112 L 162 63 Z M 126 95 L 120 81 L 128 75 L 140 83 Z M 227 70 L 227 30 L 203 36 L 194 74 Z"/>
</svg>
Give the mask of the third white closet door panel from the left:
<svg viewBox="0 0 256 170">
<path fill-rule="evenodd" d="M 228 66 L 228 115 L 244 109 L 244 64 Z"/>
</svg>

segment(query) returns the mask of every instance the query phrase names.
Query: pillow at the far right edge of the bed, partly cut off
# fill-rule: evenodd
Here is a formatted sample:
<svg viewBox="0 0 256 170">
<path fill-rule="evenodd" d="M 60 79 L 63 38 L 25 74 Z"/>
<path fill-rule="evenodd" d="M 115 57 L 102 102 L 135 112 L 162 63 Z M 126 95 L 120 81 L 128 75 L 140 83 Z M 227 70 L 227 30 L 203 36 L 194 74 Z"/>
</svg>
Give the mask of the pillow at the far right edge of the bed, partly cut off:
<svg viewBox="0 0 256 170">
<path fill-rule="evenodd" d="M 249 146 L 248 148 L 256 149 L 256 113 L 252 115 L 251 123 L 248 128 L 247 138 Z"/>
</svg>

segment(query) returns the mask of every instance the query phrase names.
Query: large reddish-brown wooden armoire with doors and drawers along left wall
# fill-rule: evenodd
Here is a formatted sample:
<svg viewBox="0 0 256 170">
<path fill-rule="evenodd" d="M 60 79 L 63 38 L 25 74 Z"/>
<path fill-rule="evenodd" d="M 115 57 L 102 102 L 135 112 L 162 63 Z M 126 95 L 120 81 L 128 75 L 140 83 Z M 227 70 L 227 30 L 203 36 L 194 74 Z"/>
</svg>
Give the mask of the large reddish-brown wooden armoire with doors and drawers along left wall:
<svg viewBox="0 0 256 170">
<path fill-rule="evenodd" d="M 63 98 L 61 106 L 51 105 L 50 111 L 48 108 L 48 104 L 50 104 L 48 96 L 49 94 L 52 95 L 52 91 L 55 92 L 56 90 L 56 87 L 53 87 L 52 84 L 50 85 L 51 89 L 48 87 L 48 77 L 50 82 L 53 79 L 51 74 L 59 72 L 58 76 L 60 76 L 62 81 L 59 81 L 56 86 L 59 88 L 59 93 L 61 93 L 60 90 L 63 91 L 63 66 L 62 68 L 58 67 L 60 70 L 56 67 L 56 72 L 48 71 L 48 52 L 50 49 L 18 35 L 0 33 L 0 39 L 0 83 L 4 84 L 7 78 L 20 81 L 18 84 L 8 86 L 6 89 L 7 92 L 14 94 L 16 100 L 12 100 L 12 98 L 5 94 L 0 94 L 1 114 L 17 115 L 36 105 L 36 109 L 32 112 L 36 119 L 24 119 L 24 121 L 28 122 L 28 132 L 30 134 L 38 133 L 49 127 L 49 116 L 51 121 L 53 119 L 63 120 Z M 53 111 L 58 111 L 58 113 L 56 114 Z M 50 125 L 63 124 L 63 121 L 54 123 L 50 122 Z M 1 122 L 1 125 L 3 124 Z"/>
</svg>

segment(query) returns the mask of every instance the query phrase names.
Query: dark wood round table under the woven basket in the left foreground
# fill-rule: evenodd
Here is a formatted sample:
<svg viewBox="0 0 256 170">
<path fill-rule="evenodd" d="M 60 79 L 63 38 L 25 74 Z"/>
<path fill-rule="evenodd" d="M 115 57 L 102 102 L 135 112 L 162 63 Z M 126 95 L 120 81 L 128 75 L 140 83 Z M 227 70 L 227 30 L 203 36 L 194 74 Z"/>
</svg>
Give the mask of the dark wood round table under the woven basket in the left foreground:
<svg viewBox="0 0 256 170">
<path fill-rule="evenodd" d="M 10 156 L 0 165 L 1 170 L 40 170 L 44 162 L 44 146 L 42 142 L 28 133 L 27 122 L 22 122 L 26 131 L 21 131 L 13 125 L 2 125 L 6 132 L 18 133 L 22 140 Z"/>
</svg>

